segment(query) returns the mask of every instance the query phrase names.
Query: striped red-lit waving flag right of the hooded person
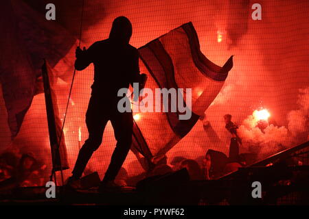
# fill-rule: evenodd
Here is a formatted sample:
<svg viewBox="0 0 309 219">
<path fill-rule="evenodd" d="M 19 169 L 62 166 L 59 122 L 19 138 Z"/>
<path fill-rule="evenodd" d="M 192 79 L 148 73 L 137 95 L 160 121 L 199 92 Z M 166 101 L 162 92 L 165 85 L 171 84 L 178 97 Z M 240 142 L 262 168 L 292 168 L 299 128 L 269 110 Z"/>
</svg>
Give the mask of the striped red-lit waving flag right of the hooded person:
<svg viewBox="0 0 309 219">
<path fill-rule="evenodd" d="M 192 116 L 188 120 L 179 120 L 178 112 L 142 112 L 135 116 L 133 152 L 139 151 L 150 164 L 155 164 L 204 114 L 225 83 L 233 60 L 230 57 L 222 67 L 209 61 L 201 53 L 192 23 L 185 23 L 138 50 L 141 73 L 148 75 L 146 88 L 183 88 L 183 101 L 185 89 L 192 88 Z"/>
</svg>

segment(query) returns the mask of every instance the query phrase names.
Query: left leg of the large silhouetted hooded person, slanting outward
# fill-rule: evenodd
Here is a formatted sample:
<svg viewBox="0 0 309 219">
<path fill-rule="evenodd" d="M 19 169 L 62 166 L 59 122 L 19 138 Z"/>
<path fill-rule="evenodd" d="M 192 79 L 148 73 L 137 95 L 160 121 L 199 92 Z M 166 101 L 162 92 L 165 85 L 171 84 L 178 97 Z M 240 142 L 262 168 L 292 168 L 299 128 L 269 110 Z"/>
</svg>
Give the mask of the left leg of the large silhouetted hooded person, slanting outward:
<svg viewBox="0 0 309 219">
<path fill-rule="evenodd" d="M 108 115 L 100 111 L 100 109 L 100 103 L 91 97 L 86 114 L 89 138 L 84 142 L 84 145 L 78 153 L 78 158 L 72 171 L 72 177 L 74 179 L 82 176 L 82 172 L 84 172 L 84 168 L 86 168 L 91 155 L 102 143 L 104 128 L 108 122 Z"/>
</svg>

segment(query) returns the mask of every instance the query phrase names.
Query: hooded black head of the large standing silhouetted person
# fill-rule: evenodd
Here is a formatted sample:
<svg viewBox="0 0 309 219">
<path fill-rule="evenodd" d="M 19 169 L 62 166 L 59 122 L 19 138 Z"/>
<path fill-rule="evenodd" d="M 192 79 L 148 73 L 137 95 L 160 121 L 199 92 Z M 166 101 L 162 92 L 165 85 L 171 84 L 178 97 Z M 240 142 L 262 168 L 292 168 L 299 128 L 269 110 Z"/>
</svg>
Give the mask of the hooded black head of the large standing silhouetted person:
<svg viewBox="0 0 309 219">
<path fill-rule="evenodd" d="M 132 24 L 125 16 L 119 16 L 113 21 L 109 38 L 118 42 L 128 43 L 132 36 Z"/>
</svg>

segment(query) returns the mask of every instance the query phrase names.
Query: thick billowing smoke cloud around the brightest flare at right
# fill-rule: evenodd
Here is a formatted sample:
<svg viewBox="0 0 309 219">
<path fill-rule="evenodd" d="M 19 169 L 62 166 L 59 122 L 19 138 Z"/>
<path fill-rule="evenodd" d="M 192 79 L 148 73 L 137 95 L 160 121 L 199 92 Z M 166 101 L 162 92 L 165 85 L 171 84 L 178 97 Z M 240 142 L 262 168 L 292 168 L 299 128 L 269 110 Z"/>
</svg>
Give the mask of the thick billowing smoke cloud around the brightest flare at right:
<svg viewBox="0 0 309 219">
<path fill-rule="evenodd" d="M 260 129 L 253 112 L 238 129 L 242 146 L 263 158 L 308 140 L 309 87 L 299 89 L 297 105 L 298 109 L 287 114 L 287 127 L 266 123 L 265 129 Z"/>
</svg>

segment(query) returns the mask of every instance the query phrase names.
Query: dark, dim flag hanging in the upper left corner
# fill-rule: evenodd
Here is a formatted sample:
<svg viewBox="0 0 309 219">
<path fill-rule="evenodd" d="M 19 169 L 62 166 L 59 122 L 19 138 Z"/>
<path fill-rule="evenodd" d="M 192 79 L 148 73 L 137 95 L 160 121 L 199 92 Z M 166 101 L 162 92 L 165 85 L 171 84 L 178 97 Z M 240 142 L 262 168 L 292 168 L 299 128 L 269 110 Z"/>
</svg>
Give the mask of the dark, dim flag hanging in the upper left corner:
<svg viewBox="0 0 309 219">
<path fill-rule="evenodd" d="M 13 139 L 33 96 L 43 91 L 39 90 L 43 57 L 55 66 L 76 38 L 23 1 L 3 1 L 1 9 L 0 82 Z"/>
</svg>

